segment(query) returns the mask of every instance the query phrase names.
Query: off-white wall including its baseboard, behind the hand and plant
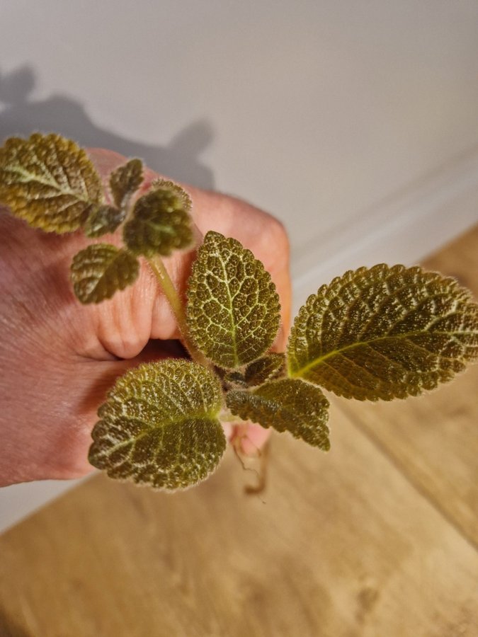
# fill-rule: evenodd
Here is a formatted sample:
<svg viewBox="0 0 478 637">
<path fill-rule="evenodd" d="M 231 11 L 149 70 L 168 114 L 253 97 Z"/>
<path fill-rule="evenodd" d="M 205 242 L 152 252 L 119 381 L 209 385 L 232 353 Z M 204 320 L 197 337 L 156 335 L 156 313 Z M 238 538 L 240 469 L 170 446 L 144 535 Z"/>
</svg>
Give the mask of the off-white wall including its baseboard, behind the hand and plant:
<svg viewBox="0 0 478 637">
<path fill-rule="evenodd" d="M 56 130 L 270 210 L 302 300 L 478 219 L 477 61 L 476 0 L 4 0 L 0 137 Z M 0 522 L 48 488 L 0 492 Z"/>
</svg>

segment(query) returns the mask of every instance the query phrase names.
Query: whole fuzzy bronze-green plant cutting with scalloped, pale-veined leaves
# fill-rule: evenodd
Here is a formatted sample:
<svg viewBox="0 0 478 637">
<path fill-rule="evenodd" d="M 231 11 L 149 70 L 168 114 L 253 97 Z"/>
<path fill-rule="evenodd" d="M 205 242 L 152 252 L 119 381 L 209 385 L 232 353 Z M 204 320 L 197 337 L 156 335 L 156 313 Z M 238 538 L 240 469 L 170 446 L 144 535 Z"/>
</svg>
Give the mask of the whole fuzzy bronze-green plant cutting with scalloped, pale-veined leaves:
<svg viewBox="0 0 478 637">
<path fill-rule="evenodd" d="M 138 195 L 142 181 L 142 162 L 131 159 L 105 190 L 86 152 L 57 134 L 11 137 L 0 149 L 0 202 L 11 214 L 91 239 L 71 265 L 79 302 L 108 302 L 135 284 L 145 260 L 189 354 L 130 369 L 110 389 L 89 452 L 108 476 L 193 486 L 220 463 L 224 421 L 273 427 L 327 451 L 323 390 L 360 401 L 419 396 L 478 357 L 470 292 L 436 272 L 385 264 L 319 287 L 297 314 L 286 351 L 271 352 L 280 302 L 263 264 L 215 231 L 196 245 L 186 190 L 157 179 Z M 103 239 L 113 233 L 119 247 Z M 183 303 L 164 258 L 192 250 Z"/>
</svg>

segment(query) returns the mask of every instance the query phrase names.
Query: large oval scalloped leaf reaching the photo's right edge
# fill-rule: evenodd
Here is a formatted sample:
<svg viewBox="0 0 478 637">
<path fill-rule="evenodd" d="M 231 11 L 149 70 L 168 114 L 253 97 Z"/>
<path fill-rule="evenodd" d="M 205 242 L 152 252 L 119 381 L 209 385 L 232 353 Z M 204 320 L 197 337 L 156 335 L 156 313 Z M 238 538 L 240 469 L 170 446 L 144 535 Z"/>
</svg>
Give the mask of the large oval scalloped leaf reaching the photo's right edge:
<svg viewBox="0 0 478 637">
<path fill-rule="evenodd" d="M 375 265 L 323 285 L 300 309 L 288 372 L 358 400 L 417 396 L 478 356 L 478 306 L 455 280 Z"/>
</svg>

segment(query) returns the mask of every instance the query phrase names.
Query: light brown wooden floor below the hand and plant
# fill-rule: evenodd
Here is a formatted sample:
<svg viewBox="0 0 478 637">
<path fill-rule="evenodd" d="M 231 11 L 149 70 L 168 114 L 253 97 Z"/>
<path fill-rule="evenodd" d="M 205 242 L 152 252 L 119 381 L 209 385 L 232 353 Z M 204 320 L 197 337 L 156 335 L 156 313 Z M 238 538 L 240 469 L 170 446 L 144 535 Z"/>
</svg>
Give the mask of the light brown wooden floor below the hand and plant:
<svg viewBox="0 0 478 637">
<path fill-rule="evenodd" d="M 478 227 L 425 263 L 478 295 Z M 0 536 L 0 636 L 478 636 L 478 365 L 332 399 L 331 452 L 275 435 L 167 495 L 97 475 Z"/>
</svg>

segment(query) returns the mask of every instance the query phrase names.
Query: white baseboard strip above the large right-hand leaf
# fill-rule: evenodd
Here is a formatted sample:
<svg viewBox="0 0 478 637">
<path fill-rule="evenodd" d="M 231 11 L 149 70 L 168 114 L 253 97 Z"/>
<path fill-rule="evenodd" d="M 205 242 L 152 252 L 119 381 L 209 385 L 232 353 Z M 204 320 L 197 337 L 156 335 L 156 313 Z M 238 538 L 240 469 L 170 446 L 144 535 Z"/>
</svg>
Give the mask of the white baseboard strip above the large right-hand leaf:
<svg viewBox="0 0 478 637">
<path fill-rule="evenodd" d="M 418 263 L 477 222 L 474 147 L 302 248 L 292 265 L 295 309 L 346 270 L 375 263 Z"/>
</svg>

